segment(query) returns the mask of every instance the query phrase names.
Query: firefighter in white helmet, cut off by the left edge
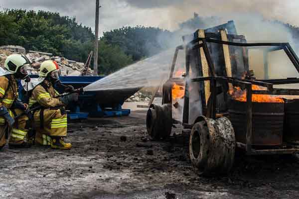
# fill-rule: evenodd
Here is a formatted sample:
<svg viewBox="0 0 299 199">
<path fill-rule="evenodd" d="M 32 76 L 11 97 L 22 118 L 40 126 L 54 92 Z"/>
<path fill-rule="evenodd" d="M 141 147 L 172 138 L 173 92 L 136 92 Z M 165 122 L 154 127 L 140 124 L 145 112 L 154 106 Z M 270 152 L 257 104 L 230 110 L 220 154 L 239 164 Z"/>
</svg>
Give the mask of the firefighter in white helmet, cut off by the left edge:
<svg viewBox="0 0 299 199">
<path fill-rule="evenodd" d="M 18 99 L 17 80 L 28 78 L 28 59 L 19 54 L 9 55 L 0 75 L 0 149 L 5 145 L 5 131 L 11 130 L 9 148 L 27 148 L 29 122 L 24 110 L 28 105 Z M 14 119 L 16 115 L 21 115 Z"/>
</svg>

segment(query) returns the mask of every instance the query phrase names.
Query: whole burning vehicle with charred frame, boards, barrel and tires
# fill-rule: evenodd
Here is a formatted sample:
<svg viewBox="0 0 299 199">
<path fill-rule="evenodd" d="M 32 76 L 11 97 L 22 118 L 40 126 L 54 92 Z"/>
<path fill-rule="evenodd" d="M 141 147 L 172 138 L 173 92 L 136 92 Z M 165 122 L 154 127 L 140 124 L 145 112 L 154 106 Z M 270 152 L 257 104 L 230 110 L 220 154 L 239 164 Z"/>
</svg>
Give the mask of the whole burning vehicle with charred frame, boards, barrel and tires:
<svg viewBox="0 0 299 199">
<path fill-rule="evenodd" d="M 174 124 L 189 129 L 189 157 L 204 175 L 228 173 L 236 147 L 246 155 L 299 152 L 299 89 L 290 88 L 298 88 L 299 79 L 281 78 L 288 68 L 275 72 L 270 66 L 271 59 L 277 65 L 284 56 L 293 65 L 292 74 L 298 74 L 299 59 L 289 43 L 247 43 L 233 21 L 197 30 L 183 41 L 163 84 L 162 104 L 148 110 L 152 140 L 168 138 Z M 185 51 L 185 74 L 176 77 L 180 50 Z M 252 51 L 260 58 L 253 59 Z M 180 117 L 173 114 L 178 108 Z"/>
</svg>

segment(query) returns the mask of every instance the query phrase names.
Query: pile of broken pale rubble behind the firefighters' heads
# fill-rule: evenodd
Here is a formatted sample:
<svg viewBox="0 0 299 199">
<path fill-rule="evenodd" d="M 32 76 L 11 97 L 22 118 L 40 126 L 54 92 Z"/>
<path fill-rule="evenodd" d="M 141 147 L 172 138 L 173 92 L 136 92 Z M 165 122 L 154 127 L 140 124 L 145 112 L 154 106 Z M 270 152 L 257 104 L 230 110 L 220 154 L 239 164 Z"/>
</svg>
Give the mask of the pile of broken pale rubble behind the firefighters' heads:
<svg viewBox="0 0 299 199">
<path fill-rule="evenodd" d="M 7 56 L 13 53 L 19 53 L 20 46 L 1 46 L 0 47 L 0 67 L 4 67 L 4 61 Z M 23 52 L 22 52 L 23 53 Z M 54 57 L 51 53 L 29 51 L 26 57 L 32 61 L 31 68 L 28 73 L 36 75 L 39 72 L 40 64 L 45 60 L 54 60 L 60 67 L 61 76 L 80 76 L 84 69 L 84 63 L 68 60 L 64 57 Z M 87 76 L 93 75 L 93 70 L 90 68 L 87 70 Z"/>
</svg>

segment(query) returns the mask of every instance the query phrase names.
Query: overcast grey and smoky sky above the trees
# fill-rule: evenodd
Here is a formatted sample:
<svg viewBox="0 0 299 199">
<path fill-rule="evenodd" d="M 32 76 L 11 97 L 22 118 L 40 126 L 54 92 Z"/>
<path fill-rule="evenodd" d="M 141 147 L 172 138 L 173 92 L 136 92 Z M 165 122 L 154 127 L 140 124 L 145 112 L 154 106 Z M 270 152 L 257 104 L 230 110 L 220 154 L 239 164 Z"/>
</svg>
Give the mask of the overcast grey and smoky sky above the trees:
<svg viewBox="0 0 299 199">
<path fill-rule="evenodd" d="M 96 0 L 0 0 L 3 8 L 48 10 L 75 16 L 94 29 Z M 255 13 L 299 26 L 299 0 L 100 0 L 100 32 L 127 25 L 174 30 L 198 12 L 203 16 Z M 234 16 L 236 16 L 234 15 Z"/>
</svg>

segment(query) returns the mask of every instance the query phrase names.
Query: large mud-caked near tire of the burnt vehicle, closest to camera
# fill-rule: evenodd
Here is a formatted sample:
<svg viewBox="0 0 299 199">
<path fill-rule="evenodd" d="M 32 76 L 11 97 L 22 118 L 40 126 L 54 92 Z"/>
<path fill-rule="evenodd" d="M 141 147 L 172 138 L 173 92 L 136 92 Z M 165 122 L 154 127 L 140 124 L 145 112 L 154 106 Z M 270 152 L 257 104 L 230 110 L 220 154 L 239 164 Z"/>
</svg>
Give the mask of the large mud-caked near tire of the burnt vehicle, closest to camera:
<svg viewBox="0 0 299 199">
<path fill-rule="evenodd" d="M 235 157 L 235 134 L 229 119 L 201 116 L 191 130 L 189 156 L 198 175 L 228 173 Z"/>
</svg>

